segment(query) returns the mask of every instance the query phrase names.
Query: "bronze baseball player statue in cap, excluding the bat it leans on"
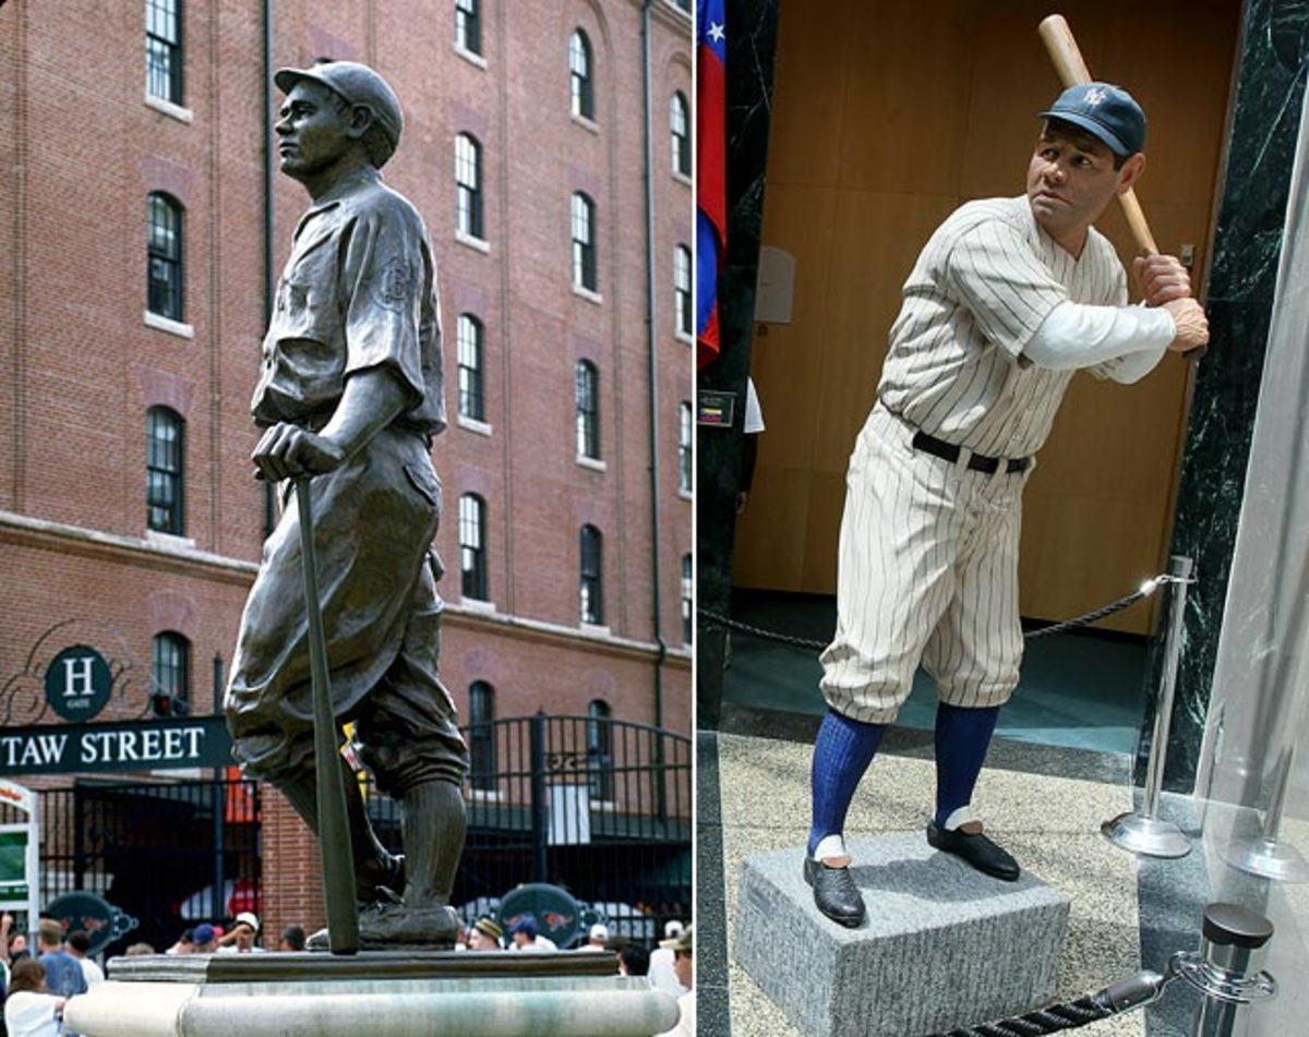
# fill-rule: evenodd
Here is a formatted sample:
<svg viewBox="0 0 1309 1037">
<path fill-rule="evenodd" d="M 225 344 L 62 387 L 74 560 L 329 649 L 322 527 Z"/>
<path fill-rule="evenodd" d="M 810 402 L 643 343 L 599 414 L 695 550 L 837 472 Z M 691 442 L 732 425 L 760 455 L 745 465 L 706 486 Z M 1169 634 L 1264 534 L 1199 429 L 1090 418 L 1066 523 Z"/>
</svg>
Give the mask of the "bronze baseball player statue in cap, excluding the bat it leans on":
<svg viewBox="0 0 1309 1037">
<path fill-rule="evenodd" d="M 284 68 L 281 172 L 310 206 L 278 284 L 254 391 L 267 431 L 253 460 L 283 513 L 264 545 L 228 683 L 233 754 L 319 831 L 300 522 L 308 483 L 331 704 L 359 758 L 398 800 L 404 858 L 373 834 L 346 780 L 360 945 L 453 945 L 448 906 L 463 848 L 467 750 L 437 677 L 441 602 L 432 551 L 445 427 L 436 268 L 418 211 L 382 183 L 401 139 L 395 93 L 352 62 Z M 342 762 L 344 767 L 344 762 Z M 310 937 L 322 947 L 326 932 Z"/>
</svg>

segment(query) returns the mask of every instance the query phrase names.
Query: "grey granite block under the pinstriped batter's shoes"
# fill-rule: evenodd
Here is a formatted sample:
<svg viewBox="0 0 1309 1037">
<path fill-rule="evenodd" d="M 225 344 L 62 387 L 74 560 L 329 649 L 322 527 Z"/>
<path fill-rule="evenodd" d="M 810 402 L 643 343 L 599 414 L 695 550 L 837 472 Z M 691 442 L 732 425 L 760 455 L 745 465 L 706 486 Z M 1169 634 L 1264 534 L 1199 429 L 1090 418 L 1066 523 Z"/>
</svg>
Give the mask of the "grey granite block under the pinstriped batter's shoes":
<svg viewBox="0 0 1309 1037">
<path fill-rule="evenodd" d="M 802 847 L 750 858 L 741 879 L 736 960 L 801 1033 L 924 1037 L 1051 1000 L 1067 897 L 1026 872 L 990 879 L 923 833 L 847 846 L 857 930 L 819 914 Z"/>
</svg>

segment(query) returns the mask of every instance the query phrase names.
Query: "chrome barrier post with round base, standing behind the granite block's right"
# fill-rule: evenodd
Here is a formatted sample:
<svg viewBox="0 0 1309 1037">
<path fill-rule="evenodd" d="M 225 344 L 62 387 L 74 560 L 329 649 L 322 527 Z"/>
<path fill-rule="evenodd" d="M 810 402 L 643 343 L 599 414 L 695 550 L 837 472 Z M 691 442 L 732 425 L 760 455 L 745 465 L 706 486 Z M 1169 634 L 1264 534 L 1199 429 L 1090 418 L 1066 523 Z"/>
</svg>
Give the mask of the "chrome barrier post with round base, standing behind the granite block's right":
<svg viewBox="0 0 1309 1037">
<path fill-rule="evenodd" d="M 1182 655 L 1182 621 L 1186 614 L 1186 587 L 1191 581 L 1192 562 L 1182 555 L 1169 559 L 1169 584 L 1173 588 L 1169 609 L 1168 639 L 1164 643 L 1164 674 L 1155 711 L 1155 733 L 1145 766 L 1145 788 L 1139 813 L 1128 812 L 1100 826 L 1114 846 L 1134 854 L 1157 858 L 1179 858 L 1191 852 L 1191 841 L 1172 821 L 1157 816 L 1158 793 L 1164 784 L 1168 758 L 1168 736 L 1173 724 L 1173 697 L 1177 691 L 1177 666 Z"/>
</svg>

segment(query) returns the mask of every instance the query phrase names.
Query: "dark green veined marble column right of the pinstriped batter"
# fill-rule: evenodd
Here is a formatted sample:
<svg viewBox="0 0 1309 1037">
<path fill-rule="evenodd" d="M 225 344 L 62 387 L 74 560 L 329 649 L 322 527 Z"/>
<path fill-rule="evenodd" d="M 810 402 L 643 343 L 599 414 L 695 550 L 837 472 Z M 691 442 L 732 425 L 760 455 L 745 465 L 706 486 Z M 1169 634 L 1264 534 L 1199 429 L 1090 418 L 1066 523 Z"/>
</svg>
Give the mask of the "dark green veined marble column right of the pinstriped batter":
<svg viewBox="0 0 1309 1037">
<path fill-rule="evenodd" d="M 1309 0 L 1250 0 L 1233 82 L 1227 170 L 1206 305 L 1210 351 L 1195 372 L 1172 554 L 1195 560 L 1186 608 L 1165 786 L 1195 783 L 1237 518 L 1259 403 L 1291 170 L 1309 63 Z M 1162 638 L 1148 677 L 1158 686 Z M 1153 706 L 1143 725 L 1144 778 Z"/>
</svg>

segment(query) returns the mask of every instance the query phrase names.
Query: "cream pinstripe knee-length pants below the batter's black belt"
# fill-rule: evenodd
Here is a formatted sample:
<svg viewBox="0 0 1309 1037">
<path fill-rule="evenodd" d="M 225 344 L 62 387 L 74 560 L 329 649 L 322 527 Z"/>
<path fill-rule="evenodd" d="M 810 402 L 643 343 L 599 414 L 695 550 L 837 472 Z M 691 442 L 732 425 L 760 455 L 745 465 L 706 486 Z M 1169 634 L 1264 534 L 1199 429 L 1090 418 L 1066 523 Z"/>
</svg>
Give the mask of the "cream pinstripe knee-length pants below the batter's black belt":
<svg viewBox="0 0 1309 1037">
<path fill-rule="evenodd" d="M 819 683 L 839 714 L 895 719 L 919 663 L 942 702 L 999 706 L 1018 683 L 1018 532 L 1033 466 L 995 474 L 915 450 L 873 407 L 846 477 L 836 635 Z"/>
</svg>

